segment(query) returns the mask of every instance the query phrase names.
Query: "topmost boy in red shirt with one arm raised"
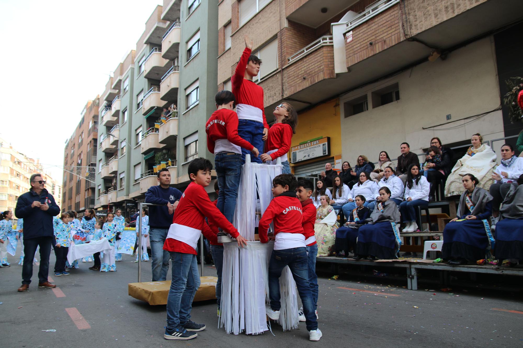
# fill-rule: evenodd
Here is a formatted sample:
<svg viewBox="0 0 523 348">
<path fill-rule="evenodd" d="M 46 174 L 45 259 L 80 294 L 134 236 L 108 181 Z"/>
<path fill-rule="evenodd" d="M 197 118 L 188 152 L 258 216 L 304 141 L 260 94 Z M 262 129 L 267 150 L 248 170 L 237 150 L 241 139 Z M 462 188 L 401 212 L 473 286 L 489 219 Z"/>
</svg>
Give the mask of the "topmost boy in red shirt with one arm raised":
<svg viewBox="0 0 523 348">
<path fill-rule="evenodd" d="M 245 50 L 231 77 L 232 92 L 237 101 L 236 112 L 240 120 L 238 134 L 257 149 L 263 149 L 269 125 L 265 119 L 263 88 L 253 82 L 253 77 L 259 73 L 261 60 L 251 54 L 253 42 L 249 37 L 245 36 L 244 40 Z M 249 149 L 242 147 L 243 163 L 248 153 Z M 255 152 L 252 152 L 251 161 L 261 163 Z"/>
</svg>

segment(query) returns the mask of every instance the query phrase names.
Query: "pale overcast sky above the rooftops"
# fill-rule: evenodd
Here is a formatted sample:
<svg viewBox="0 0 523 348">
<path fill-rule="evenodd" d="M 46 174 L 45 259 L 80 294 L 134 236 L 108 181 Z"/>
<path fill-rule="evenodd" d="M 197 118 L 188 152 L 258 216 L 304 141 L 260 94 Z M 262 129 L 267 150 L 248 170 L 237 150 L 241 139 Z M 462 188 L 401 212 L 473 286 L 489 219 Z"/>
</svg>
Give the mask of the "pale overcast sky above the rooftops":
<svg viewBox="0 0 523 348">
<path fill-rule="evenodd" d="M 62 182 L 64 143 L 85 103 L 162 0 L 0 0 L 0 137 Z M 46 170 L 46 171 L 47 171 Z"/>
</svg>

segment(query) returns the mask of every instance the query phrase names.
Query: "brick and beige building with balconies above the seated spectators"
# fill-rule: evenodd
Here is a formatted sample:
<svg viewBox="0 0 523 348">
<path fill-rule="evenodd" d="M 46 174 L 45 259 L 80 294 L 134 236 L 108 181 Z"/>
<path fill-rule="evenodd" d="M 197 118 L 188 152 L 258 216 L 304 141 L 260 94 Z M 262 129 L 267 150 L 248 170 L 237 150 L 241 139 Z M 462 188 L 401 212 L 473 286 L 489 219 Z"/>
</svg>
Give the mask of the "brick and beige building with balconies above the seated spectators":
<svg viewBox="0 0 523 348">
<path fill-rule="evenodd" d="M 500 108 L 501 76 L 518 68 L 498 61 L 514 56 L 507 34 L 515 29 L 506 28 L 523 17 L 522 7 L 511 0 L 222 0 L 218 89 L 230 88 L 247 34 L 263 61 L 255 81 L 268 121 L 282 101 L 299 112 L 289 152 L 297 175 L 315 175 L 327 161 L 354 166 L 359 155 L 377 161 L 381 150 L 395 158 L 405 141 L 421 154 L 432 136 L 459 153 L 479 132 L 496 148 L 521 129 Z"/>
</svg>

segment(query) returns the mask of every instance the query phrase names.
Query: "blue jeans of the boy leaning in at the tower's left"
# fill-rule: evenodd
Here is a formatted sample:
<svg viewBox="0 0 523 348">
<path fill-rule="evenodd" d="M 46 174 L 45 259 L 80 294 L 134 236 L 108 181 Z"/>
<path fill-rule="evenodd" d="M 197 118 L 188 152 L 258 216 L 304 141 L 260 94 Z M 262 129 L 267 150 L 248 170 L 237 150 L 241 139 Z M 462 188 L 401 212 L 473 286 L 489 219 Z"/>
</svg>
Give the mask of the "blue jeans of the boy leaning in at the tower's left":
<svg viewBox="0 0 523 348">
<path fill-rule="evenodd" d="M 192 299 L 200 287 L 200 274 L 195 254 L 169 251 L 173 261 L 167 296 L 167 329 L 173 330 L 191 319 Z"/>
</svg>

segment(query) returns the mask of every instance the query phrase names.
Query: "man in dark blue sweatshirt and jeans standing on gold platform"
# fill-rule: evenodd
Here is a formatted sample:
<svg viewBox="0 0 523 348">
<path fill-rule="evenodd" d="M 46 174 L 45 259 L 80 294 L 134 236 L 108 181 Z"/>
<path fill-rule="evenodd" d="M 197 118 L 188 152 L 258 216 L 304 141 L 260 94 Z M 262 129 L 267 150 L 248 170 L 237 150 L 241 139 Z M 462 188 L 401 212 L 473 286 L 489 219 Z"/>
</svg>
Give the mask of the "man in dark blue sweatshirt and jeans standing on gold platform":
<svg viewBox="0 0 523 348">
<path fill-rule="evenodd" d="M 164 281 L 169 270 L 168 251 L 163 250 L 163 244 L 170 225 L 173 223 L 173 215 L 181 198 L 181 191 L 169 187 L 170 172 L 163 168 L 157 173 L 157 186 L 151 186 L 145 193 L 145 203 L 161 204 L 163 206 L 149 206 L 149 239 L 151 240 L 151 267 L 153 270 L 153 282 Z"/>
</svg>

